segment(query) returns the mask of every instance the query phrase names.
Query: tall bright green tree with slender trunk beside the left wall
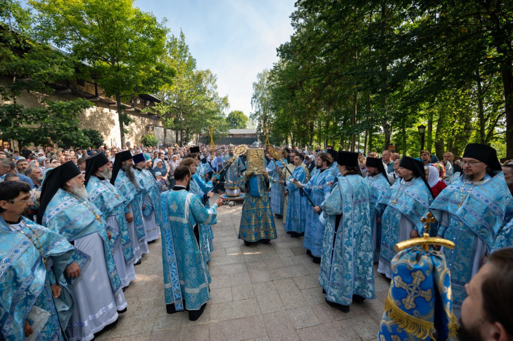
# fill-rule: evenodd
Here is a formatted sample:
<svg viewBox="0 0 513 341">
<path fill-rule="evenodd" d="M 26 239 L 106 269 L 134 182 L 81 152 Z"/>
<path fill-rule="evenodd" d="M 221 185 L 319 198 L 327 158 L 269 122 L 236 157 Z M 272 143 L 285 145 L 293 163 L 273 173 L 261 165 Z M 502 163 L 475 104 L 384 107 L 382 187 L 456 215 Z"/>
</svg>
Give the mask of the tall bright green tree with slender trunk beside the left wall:
<svg viewBox="0 0 513 341">
<path fill-rule="evenodd" d="M 91 65 L 89 73 L 107 96 L 115 96 L 121 143 L 122 98 L 159 91 L 172 83 L 175 71 L 162 62 L 166 50 L 165 21 L 133 7 L 133 0 L 30 0 L 38 11 L 38 35 Z"/>
</svg>

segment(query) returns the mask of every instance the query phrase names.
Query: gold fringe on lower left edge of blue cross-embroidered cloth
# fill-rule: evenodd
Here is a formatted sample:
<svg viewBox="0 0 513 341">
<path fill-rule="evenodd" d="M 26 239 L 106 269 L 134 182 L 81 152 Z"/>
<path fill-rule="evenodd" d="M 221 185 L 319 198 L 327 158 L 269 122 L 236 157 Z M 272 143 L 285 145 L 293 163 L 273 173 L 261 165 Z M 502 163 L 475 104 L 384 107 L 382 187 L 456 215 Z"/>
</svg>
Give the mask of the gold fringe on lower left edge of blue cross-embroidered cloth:
<svg viewBox="0 0 513 341">
<path fill-rule="evenodd" d="M 389 295 L 387 295 L 385 300 L 385 313 L 407 333 L 421 339 L 425 339 L 428 336 L 433 340 L 436 339 L 435 335 L 437 331 L 435 324 L 405 313 L 392 302 Z"/>
</svg>

